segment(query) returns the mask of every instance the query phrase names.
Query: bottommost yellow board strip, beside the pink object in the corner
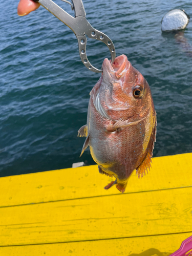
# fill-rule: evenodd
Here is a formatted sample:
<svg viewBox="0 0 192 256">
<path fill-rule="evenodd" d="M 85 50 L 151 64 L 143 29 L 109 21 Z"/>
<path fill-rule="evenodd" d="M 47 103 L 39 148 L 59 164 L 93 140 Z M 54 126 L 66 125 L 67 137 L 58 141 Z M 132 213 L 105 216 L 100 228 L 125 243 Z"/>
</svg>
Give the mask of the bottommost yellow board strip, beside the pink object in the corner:
<svg viewBox="0 0 192 256">
<path fill-rule="evenodd" d="M 73 243 L 0 247 L 1 256 L 168 256 L 191 233 Z"/>
</svg>

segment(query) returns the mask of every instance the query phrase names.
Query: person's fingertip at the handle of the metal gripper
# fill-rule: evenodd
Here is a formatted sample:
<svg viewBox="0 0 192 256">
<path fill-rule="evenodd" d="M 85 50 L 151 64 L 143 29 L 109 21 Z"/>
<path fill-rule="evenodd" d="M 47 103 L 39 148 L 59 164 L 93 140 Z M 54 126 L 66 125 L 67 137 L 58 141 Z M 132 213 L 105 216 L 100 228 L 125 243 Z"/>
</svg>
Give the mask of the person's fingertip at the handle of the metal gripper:
<svg viewBox="0 0 192 256">
<path fill-rule="evenodd" d="M 25 16 L 39 8 L 39 6 L 40 4 L 35 3 L 33 0 L 20 0 L 17 7 L 17 14 L 19 16 Z"/>
</svg>

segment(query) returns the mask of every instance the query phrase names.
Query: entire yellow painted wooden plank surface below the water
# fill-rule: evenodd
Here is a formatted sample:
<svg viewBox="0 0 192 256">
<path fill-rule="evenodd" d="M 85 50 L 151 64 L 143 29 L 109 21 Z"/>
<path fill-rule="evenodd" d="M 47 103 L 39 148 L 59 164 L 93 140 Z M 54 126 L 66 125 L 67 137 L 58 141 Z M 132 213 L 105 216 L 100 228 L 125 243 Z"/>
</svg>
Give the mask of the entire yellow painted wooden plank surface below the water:
<svg viewBox="0 0 192 256">
<path fill-rule="evenodd" d="M 192 153 L 153 159 L 124 194 L 97 165 L 0 178 L 0 255 L 169 255 L 192 236 Z"/>
</svg>

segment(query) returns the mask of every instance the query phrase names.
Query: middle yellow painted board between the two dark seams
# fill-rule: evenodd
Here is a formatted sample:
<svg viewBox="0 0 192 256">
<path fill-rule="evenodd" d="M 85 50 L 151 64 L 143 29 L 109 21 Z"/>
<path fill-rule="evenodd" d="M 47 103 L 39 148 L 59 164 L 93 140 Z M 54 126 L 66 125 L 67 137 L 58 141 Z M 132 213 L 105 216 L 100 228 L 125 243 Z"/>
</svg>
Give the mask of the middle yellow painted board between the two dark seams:
<svg viewBox="0 0 192 256">
<path fill-rule="evenodd" d="M 0 208 L 0 246 L 192 232 L 192 188 Z"/>
</svg>

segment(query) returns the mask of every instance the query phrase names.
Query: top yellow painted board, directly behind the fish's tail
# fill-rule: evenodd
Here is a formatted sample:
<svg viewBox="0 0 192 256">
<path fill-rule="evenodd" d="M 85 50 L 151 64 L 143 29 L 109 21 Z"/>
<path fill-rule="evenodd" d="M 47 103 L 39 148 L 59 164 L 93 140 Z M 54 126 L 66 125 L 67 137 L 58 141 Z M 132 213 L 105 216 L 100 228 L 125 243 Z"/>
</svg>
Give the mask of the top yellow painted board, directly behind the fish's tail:
<svg viewBox="0 0 192 256">
<path fill-rule="evenodd" d="M 139 180 L 135 172 L 125 193 L 192 186 L 192 153 L 153 159 L 151 172 Z M 119 194 L 112 178 L 97 165 L 0 178 L 0 207 Z"/>
</svg>

